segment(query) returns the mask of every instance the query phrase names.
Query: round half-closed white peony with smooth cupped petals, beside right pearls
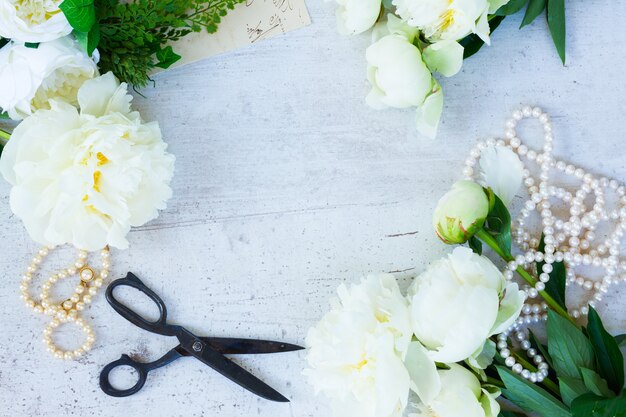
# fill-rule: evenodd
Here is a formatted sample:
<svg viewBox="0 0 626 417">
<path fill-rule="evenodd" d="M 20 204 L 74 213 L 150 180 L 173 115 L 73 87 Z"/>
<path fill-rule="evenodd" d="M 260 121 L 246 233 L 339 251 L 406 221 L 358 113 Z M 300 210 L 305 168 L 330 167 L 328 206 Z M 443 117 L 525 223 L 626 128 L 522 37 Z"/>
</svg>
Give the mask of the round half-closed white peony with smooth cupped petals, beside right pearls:
<svg viewBox="0 0 626 417">
<path fill-rule="evenodd" d="M 484 256 L 457 247 L 409 289 L 417 339 L 437 362 L 463 361 L 519 316 L 524 292 Z"/>
</svg>

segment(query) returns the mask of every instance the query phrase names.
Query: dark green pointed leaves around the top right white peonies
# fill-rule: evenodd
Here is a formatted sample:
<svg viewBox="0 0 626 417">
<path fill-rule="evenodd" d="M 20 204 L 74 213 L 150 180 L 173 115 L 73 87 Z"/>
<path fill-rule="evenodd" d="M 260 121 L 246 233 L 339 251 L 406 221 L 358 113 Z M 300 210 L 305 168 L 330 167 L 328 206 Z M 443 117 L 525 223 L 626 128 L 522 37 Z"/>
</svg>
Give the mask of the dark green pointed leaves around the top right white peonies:
<svg viewBox="0 0 626 417">
<path fill-rule="evenodd" d="M 565 0 L 511 0 L 504 6 L 500 7 L 493 15 L 489 16 L 489 27 L 493 33 L 500 23 L 510 15 L 518 13 L 524 7 L 526 12 L 522 19 L 520 29 L 532 23 L 544 11 L 552 41 L 556 47 L 557 53 L 565 64 L 565 41 L 566 41 L 566 24 L 565 24 Z M 461 39 L 459 43 L 465 48 L 464 58 L 469 58 L 478 52 L 484 45 L 482 39 L 472 34 Z"/>
</svg>

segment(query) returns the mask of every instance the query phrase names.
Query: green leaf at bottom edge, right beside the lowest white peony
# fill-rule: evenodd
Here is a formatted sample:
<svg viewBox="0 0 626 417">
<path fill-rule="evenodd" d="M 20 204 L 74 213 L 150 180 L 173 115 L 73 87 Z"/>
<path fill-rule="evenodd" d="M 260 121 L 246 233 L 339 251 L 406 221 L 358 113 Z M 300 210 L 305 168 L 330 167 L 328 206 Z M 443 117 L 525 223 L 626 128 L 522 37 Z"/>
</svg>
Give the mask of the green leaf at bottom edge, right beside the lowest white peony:
<svg viewBox="0 0 626 417">
<path fill-rule="evenodd" d="M 513 373 L 510 369 L 497 366 L 500 379 L 506 386 L 502 394 L 509 401 L 529 413 L 544 417 L 571 417 L 567 407 L 543 388 Z"/>
</svg>

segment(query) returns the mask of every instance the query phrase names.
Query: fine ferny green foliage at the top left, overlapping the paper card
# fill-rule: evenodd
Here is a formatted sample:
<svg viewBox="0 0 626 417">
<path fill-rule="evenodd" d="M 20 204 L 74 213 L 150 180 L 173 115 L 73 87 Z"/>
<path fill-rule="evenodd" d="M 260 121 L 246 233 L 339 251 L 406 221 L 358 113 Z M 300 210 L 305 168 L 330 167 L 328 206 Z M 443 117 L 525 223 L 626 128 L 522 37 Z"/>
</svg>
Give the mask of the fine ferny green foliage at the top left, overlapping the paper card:
<svg viewBox="0 0 626 417">
<path fill-rule="evenodd" d="M 168 68 L 180 58 L 170 42 L 201 30 L 216 32 L 221 19 L 243 1 L 99 0 L 99 66 L 102 72 L 113 71 L 121 80 L 144 87 L 150 71 Z"/>
</svg>

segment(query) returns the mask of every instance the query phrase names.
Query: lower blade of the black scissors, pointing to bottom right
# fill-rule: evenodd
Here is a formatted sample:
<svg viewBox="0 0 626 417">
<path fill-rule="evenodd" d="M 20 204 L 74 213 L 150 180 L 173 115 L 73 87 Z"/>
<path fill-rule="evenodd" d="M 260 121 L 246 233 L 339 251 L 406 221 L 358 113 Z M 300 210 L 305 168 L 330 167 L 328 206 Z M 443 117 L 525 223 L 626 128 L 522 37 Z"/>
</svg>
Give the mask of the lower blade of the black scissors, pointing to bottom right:
<svg viewBox="0 0 626 417">
<path fill-rule="evenodd" d="M 202 352 L 192 353 L 192 355 L 234 383 L 239 384 L 261 398 L 281 403 L 289 402 L 287 398 L 283 397 L 274 388 L 208 346 Z"/>
</svg>

